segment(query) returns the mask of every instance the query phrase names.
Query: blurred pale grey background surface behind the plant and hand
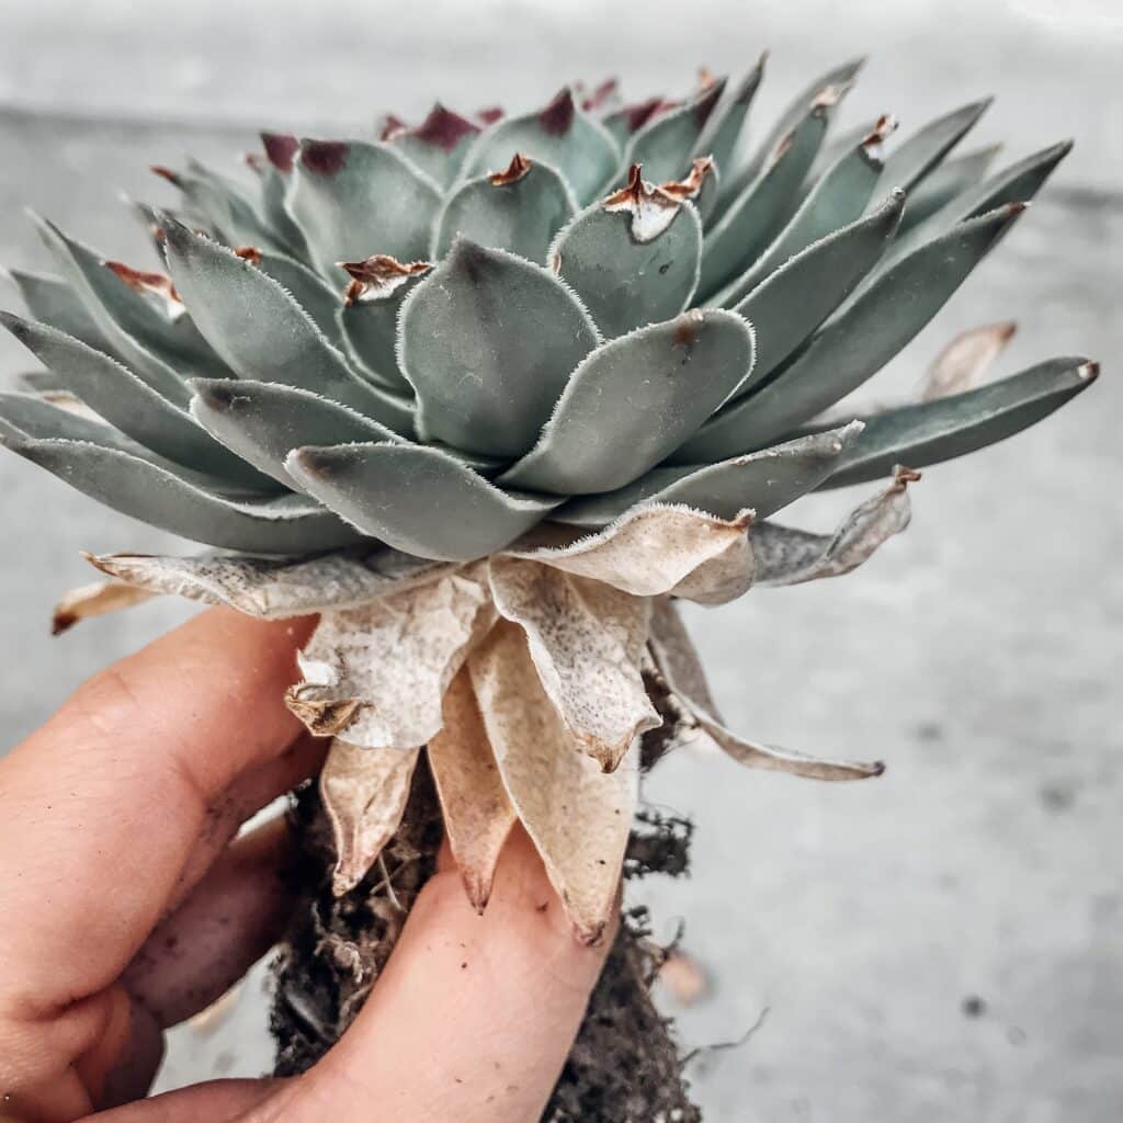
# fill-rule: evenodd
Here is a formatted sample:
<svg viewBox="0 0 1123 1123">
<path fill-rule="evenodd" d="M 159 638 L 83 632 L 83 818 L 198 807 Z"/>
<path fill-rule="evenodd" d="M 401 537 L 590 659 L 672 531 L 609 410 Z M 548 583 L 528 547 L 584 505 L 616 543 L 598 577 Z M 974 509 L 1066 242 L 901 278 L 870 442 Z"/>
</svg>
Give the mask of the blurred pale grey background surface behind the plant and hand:
<svg viewBox="0 0 1123 1123">
<path fill-rule="evenodd" d="M 1084 353 L 1105 377 L 1056 418 L 914 492 L 910 531 L 844 582 L 688 617 L 730 724 L 807 751 L 880 757 L 816 785 L 679 752 L 648 800 L 696 824 L 693 876 L 645 884 L 655 934 L 703 993 L 663 995 L 715 1123 L 1099 1123 L 1123 1117 L 1123 7 L 1117 0 L 474 0 L 423 4 L 0 2 L 0 262 L 45 264 L 33 206 L 110 256 L 148 261 L 120 192 L 192 152 L 236 168 L 266 126 L 354 134 L 545 102 L 618 73 L 636 95 L 700 64 L 770 70 L 754 119 L 830 64 L 870 55 L 846 117 L 907 133 L 986 93 L 973 140 L 1006 157 L 1077 147 L 1001 252 L 874 383 L 902 392 L 943 343 L 1016 319 L 1003 373 Z M 0 300 L 13 307 L 7 282 Z M 0 339 L 0 382 L 27 369 Z M 190 551 L 0 457 L 0 750 L 86 675 L 183 619 L 157 601 L 52 640 L 91 578 L 79 549 Z M 787 521 L 830 527 L 852 496 Z M 137 844 L 143 844 L 137 840 Z M 687 973 L 691 974 L 691 973 Z M 221 1017 L 172 1034 L 161 1087 L 270 1065 L 258 970 Z M 704 1047 L 739 1039 L 737 1049 Z"/>
</svg>

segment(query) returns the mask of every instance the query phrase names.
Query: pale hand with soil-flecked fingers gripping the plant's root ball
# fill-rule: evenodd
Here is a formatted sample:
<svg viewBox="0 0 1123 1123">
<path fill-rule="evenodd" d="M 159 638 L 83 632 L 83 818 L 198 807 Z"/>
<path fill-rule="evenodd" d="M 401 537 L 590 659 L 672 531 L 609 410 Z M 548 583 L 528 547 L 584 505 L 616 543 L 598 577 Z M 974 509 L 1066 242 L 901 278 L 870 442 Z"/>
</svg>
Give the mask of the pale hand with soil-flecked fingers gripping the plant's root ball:
<svg viewBox="0 0 1123 1123">
<path fill-rule="evenodd" d="M 0 761 L 2 1123 L 540 1119 L 612 933 L 573 938 L 521 832 L 483 916 L 442 853 L 371 999 L 308 1074 L 144 1098 L 163 1030 L 289 914 L 283 822 L 238 831 L 322 763 L 282 700 L 312 624 L 204 612 Z"/>
</svg>

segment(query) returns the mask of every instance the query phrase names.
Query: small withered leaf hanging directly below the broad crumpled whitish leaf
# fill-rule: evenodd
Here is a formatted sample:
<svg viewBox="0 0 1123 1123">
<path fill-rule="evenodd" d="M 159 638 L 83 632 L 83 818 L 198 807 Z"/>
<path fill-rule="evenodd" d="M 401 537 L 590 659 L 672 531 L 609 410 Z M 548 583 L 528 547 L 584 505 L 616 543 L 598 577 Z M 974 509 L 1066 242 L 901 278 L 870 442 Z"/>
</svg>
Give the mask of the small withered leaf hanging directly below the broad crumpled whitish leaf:
<svg viewBox="0 0 1123 1123">
<path fill-rule="evenodd" d="M 338 738 L 320 773 L 320 795 L 336 840 L 336 896 L 355 888 L 398 830 L 419 749 L 363 749 Z"/>
</svg>

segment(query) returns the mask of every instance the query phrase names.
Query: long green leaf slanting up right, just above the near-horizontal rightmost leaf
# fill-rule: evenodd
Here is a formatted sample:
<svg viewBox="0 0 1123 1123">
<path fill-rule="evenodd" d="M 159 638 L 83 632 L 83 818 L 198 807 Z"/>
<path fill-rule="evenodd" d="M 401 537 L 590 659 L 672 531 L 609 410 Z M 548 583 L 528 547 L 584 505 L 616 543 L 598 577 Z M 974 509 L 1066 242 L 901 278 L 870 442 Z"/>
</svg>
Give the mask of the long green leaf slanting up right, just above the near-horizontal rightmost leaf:
<svg viewBox="0 0 1123 1123">
<path fill-rule="evenodd" d="M 761 448 L 856 390 L 935 316 L 1022 210 L 1004 207 L 964 222 L 883 273 L 770 382 L 711 418 L 679 455 L 702 462 Z"/>
</svg>

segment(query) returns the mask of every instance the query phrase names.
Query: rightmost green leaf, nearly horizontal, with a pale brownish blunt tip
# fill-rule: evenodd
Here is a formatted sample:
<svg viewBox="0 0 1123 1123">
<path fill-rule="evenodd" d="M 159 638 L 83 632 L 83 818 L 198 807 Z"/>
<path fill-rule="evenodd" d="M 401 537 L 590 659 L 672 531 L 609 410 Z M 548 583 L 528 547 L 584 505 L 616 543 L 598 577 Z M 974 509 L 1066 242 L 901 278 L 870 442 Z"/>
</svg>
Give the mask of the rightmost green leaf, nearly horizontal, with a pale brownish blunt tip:
<svg viewBox="0 0 1123 1123">
<path fill-rule="evenodd" d="M 1098 373 L 1085 358 L 1053 358 L 962 394 L 874 413 L 825 486 L 877 480 L 895 464 L 922 468 L 1004 440 L 1087 390 Z"/>
</svg>

